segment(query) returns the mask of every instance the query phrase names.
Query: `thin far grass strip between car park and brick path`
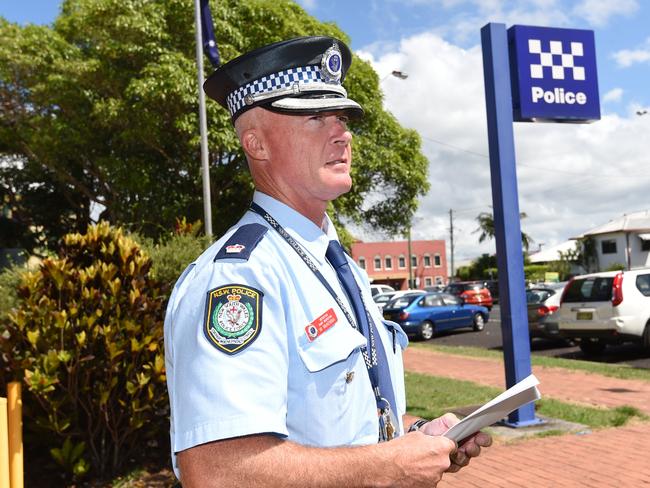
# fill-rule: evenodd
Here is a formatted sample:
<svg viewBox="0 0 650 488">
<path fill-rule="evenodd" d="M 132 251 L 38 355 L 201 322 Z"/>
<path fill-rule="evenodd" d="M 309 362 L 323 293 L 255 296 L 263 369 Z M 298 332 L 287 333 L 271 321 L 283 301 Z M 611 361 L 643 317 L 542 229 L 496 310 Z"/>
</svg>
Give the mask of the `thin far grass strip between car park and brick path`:
<svg viewBox="0 0 650 488">
<path fill-rule="evenodd" d="M 409 347 L 428 349 L 430 351 L 435 351 L 435 352 L 440 352 L 445 354 L 456 354 L 459 356 L 471 356 L 471 357 L 493 358 L 493 359 L 503 360 L 503 353 L 501 351 L 492 351 L 488 349 L 481 349 L 478 347 L 442 346 L 442 345 L 418 344 L 418 343 L 411 343 Z M 536 355 L 531 355 L 530 360 L 533 366 L 546 366 L 550 368 L 572 369 L 576 371 L 584 371 L 587 373 L 600 374 L 603 376 L 611 376 L 613 378 L 621 378 L 624 380 L 650 381 L 650 370 L 633 368 L 627 365 L 595 363 L 592 361 L 550 358 L 546 356 L 536 356 Z"/>
</svg>

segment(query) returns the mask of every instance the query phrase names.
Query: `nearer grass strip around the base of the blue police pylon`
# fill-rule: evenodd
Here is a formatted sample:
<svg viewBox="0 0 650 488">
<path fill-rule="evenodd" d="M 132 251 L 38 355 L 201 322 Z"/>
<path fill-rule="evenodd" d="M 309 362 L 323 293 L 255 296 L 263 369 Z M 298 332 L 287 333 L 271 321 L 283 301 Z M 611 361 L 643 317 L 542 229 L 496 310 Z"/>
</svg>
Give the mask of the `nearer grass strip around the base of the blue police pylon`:
<svg viewBox="0 0 650 488">
<path fill-rule="evenodd" d="M 408 413 L 424 418 L 435 418 L 457 407 L 480 406 L 502 391 L 471 381 L 419 373 L 407 372 L 405 378 Z M 634 417 L 643 420 L 648 418 L 634 407 L 595 408 L 544 398 L 537 401 L 536 411 L 545 417 L 576 422 L 592 428 L 624 425 Z"/>
</svg>

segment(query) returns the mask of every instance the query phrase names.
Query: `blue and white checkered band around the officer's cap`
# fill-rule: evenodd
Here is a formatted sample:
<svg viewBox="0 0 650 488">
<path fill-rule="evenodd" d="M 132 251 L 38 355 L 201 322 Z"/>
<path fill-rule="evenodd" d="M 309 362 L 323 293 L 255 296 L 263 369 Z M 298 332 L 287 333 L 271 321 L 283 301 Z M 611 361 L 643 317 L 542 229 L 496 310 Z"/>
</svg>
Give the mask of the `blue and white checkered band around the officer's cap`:
<svg viewBox="0 0 650 488">
<path fill-rule="evenodd" d="M 226 99 L 230 115 L 235 115 L 245 105 L 244 98 L 246 95 L 261 95 L 276 90 L 291 88 L 295 83 L 308 85 L 310 83 L 322 83 L 320 76 L 320 66 L 300 66 L 290 68 L 285 71 L 279 71 L 270 75 L 263 76 L 255 81 L 238 88 Z"/>
</svg>

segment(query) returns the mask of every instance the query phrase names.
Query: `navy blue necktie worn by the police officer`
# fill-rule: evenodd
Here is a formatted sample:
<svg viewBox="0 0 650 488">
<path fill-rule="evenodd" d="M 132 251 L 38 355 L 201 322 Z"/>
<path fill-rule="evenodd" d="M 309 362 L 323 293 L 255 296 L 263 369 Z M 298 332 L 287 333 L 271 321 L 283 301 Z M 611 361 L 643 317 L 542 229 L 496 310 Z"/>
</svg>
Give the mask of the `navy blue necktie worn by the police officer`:
<svg viewBox="0 0 650 488">
<path fill-rule="evenodd" d="M 341 244 L 339 244 L 338 241 L 330 241 L 329 245 L 327 246 L 327 252 L 325 253 L 325 256 L 327 257 L 328 261 L 332 264 L 332 266 L 336 270 L 336 274 L 339 277 L 339 281 L 343 285 L 343 288 L 345 289 L 345 292 L 347 293 L 348 298 L 350 299 L 352 308 L 354 308 L 354 315 L 357 318 L 357 324 L 359 326 L 359 329 L 363 333 L 363 335 L 366 336 L 366 342 L 368 344 L 368 355 L 370 356 L 371 361 L 372 361 L 372 351 L 370 348 L 371 330 L 373 335 L 375 336 L 375 349 L 377 351 L 377 366 L 373 366 L 373 367 L 376 368 L 378 373 L 377 374 L 378 385 L 373 385 L 373 388 L 375 386 L 379 386 L 381 397 L 390 403 L 391 410 L 393 410 L 393 412 L 396 414 L 397 410 L 395 407 L 395 394 L 393 393 L 393 385 L 390 380 L 390 369 L 388 368 L 388 358 L 386 357 L 386 351 L 384 350 L 384 346 L 381 342 L 381 338 L 379 337 L 378 331 L 374 328 L 373 321 L 368 320 L 369 314 L 363 304 L 363 300 L 361 299 L 361 290 L 359 289 L 359 285 L 354 279 L 354 275 L 352 274 L 352 269 L 350 269 L 350 265 L 348 264 L 348 261 L 345 257 L 345 252 L 343 252 L 343 248 L 341 247 Z M 370 373 L 370 381 L 373 382 L 372 372 L 369 371 L 369 373 Z M 378 407 L 381 408 L 382 406 L 378 405 Z"/>
</svg>

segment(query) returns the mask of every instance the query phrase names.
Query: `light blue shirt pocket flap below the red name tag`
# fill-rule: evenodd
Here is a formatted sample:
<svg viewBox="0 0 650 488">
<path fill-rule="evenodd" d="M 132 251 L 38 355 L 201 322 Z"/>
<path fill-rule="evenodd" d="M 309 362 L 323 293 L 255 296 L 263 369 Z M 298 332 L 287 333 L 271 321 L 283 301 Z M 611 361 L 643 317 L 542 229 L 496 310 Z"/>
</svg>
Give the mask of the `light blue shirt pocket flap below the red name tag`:
<svg viewBox="0 0 650 488">
<path fill-rule="evenodd" d="M 307 339 L 307 334 L 302 334 L 298 339 L 298 354 L 305 367 L 315 373 L 345 361 L 355 349 L 365 344 L 366 338 L 363 334 L 344 323 L 339 323 L 312 342 Z"/>
</svg>

